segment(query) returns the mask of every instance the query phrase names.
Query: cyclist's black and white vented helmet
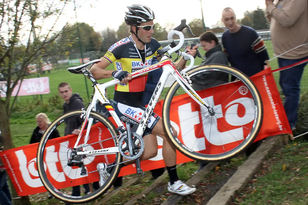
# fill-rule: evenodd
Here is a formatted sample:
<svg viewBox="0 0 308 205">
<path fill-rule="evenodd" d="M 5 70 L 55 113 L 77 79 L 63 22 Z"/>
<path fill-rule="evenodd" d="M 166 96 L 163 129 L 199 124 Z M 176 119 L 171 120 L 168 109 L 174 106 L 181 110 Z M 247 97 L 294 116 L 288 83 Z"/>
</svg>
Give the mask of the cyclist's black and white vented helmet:
<svg viewBox="0 0 308 205">
<path fill-rule="evenodd" d="M 128 11 L 125 12 L 124 21 L 129 26 L 136 26 L 155 19 L 154 12 L 148 6 L 132 5 L 127 6 L 127 8 Z"/>
</svg>

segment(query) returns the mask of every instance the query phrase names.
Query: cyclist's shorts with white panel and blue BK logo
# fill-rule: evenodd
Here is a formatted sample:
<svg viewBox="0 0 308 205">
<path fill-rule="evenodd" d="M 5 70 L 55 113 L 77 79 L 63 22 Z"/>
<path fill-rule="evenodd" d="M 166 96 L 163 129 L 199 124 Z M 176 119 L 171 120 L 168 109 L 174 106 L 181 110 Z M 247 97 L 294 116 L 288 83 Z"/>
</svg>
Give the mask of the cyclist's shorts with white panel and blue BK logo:
<svg viewBox="0 0 308 205">
<path fill-rule="evenodd" d="M 114 109 L 115 113 L 119 116 L 125 116 L 128 117 L 128 119 L 131 122 L 131 128 L 134 124 L 139 124 L 141 117 L 146 110 L 146 108 L 142 105 L 136 105 L 135 107 L 128 106 L 126 104 L 119 103 L 117 101 L 114 101 Z M 158 120 L 160 119 L 160 116 L 158 116 L 156 113 L 152 112 L 152 115 L 148 121 L 148 125 L 145 128 L 144 135 L 151 134 L 153 128 L 157 124 Z"/>
</svg>

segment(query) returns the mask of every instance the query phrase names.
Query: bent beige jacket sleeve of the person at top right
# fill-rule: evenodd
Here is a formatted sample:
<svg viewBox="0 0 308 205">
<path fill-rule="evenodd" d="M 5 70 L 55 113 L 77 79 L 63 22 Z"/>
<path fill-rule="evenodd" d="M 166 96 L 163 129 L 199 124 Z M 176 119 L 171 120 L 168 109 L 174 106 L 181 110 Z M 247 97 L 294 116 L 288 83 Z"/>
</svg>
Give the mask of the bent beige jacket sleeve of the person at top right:
<svg viewBox="0 0 308 205">
<path fill-rule="evenodd" d="M 284 0 L 282 9 L 273 5 L 266 7 L 266 12 L 270 14 L 279 24 L 285 27 L 292 26 L 304 12 L 304 5 L 307 0 Z"/>
</svg>

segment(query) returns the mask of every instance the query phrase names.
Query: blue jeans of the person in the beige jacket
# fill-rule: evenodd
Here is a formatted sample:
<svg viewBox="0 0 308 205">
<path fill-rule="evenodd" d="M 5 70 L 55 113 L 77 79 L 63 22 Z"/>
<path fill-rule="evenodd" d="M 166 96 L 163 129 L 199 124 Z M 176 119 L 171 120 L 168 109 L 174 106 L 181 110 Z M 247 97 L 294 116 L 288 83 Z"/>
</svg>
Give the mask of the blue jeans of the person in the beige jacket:
<svg viewBox="0 0 308 205">
<path fill-rule="evenodd" d="M 282 68 L 305 60 L 307 58 L 308 56 L 300 59 L 278 58 L 278 65 L 279 68 Z M 280 71 L 279 84 L 282 88 L 283 94 L 286 97 L 284 108 L 291 128 L 295 127 L 297 123 L 297 109 L 300 94 L 300 84 L 304 67 L 306 66 L 306 64 L 307 62 Z"/>
</svg>

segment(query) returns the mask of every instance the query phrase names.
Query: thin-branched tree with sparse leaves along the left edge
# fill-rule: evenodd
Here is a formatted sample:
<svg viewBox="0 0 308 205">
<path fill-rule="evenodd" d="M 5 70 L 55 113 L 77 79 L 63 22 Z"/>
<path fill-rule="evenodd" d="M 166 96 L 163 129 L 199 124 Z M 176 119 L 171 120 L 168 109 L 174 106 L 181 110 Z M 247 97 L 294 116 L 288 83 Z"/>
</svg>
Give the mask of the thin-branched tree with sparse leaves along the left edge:
<svg viewBox="0 0 308 205">
<path fill-rule="evenodd" d="M 62 30 L 55 32 L 55 27 L 63 23 L 59 18 L 67 3 L 68 0 L 0 2 L 0 76 L 5 82 L 0 91 L 6 93 L 6 97 L 0 97 L 0 130 L 5 150 L 14 148 L 10 116 L 17 95 L 12 97 L 12 92 L 26 77 L 27 66 L 38 59 L 45 47 L 62 33 Z M 52 24 L 50 19 L 54 19 Z M 16 191 L 11 187 L 13 198 L 16 198 Z M 14 204 L 30 204 L 29 198 L 14 199 Z"/>
</svg>

